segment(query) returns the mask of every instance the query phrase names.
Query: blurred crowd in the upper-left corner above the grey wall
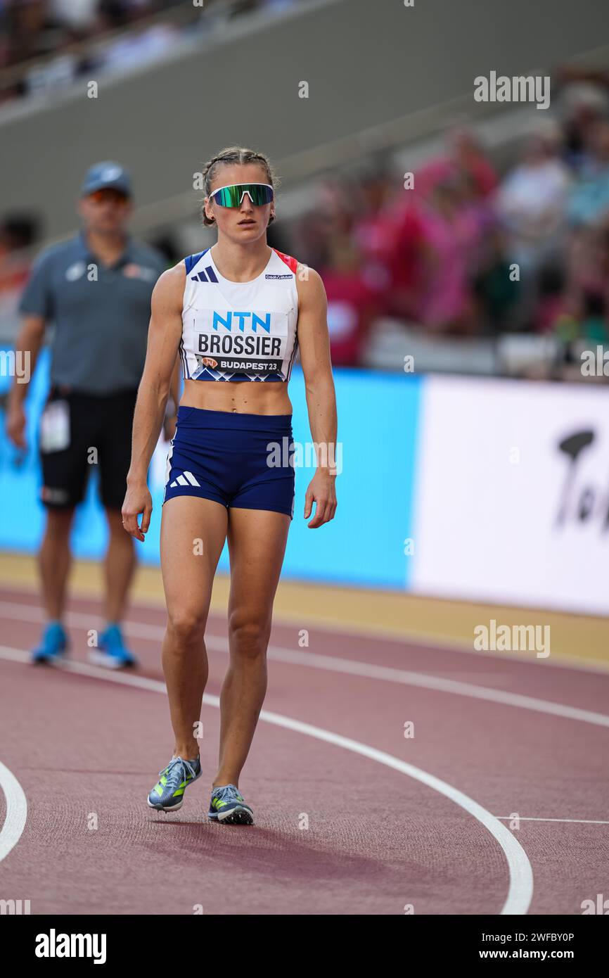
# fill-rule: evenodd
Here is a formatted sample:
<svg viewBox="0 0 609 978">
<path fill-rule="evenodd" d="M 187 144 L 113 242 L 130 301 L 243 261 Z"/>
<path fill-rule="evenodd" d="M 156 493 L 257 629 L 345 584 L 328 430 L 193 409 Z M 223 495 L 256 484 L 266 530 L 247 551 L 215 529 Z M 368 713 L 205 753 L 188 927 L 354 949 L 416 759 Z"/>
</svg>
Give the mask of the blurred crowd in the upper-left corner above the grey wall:
<svg viewBox="0 0 609 978">
<path fill-rule="evenodd" d="M 0 0 L 0 102 L 135 67 L 189 32 L 303 0 Z M 154 16 L 158 15 L 158 16 Z"/>
</svg>

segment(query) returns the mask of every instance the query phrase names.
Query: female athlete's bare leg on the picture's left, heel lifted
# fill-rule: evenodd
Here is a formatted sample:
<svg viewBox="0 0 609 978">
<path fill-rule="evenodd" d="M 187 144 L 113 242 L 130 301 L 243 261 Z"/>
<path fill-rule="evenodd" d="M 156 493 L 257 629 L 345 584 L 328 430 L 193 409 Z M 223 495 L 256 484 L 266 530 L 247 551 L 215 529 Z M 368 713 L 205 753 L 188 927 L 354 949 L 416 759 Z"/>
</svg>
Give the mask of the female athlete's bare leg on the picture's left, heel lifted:
<svg viewBox="0 0 609 978">
<path fill-rule="evenodd" d="M 163 673 L 169 695 L 174 755 L 198 754 L 194 725 L 207 682 L 204 632 L 211 587 L 227 532 L 227 510 L 196 496 L 168 499 L 160 526 L 160 564 L 167 601 Z"/>
</svg>

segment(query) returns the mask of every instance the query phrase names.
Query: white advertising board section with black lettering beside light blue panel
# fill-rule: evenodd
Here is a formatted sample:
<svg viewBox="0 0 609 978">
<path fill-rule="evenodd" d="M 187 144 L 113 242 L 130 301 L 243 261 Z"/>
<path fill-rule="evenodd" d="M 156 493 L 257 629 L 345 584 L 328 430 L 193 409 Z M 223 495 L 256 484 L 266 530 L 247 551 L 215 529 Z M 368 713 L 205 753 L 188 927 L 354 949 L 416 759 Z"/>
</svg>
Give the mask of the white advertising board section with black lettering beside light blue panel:
<svg viewBox="0 0 609 978">
<path fill-rule="evenodd" d="M 426 378 L 410 590 L 609 614 L 609 387 Z"/>
</svg>

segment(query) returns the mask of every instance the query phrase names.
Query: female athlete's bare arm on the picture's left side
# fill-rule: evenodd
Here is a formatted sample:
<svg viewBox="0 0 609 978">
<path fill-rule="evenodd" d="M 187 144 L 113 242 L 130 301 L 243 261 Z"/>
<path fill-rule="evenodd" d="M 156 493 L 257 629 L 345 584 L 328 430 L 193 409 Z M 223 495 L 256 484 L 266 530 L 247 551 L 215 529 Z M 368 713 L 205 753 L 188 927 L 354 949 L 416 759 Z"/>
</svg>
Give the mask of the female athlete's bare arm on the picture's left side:
<svg viewBox="0 0 609 978">
<path fill-rule="evenodd" d="M 133 416 L 131 466 L 122 506 L 123 526 L 136 540 L 144 540 L 144 534 L 151 524 L 152 496 L 146 478 L 165 416 L 182 335 L 185 277 L 184 264 L 176 265 L 163 272 L 152 292 L 146 363 Z M 138 516 L 141 512 L 142 525 L 139 526 Z"/>
</svg>

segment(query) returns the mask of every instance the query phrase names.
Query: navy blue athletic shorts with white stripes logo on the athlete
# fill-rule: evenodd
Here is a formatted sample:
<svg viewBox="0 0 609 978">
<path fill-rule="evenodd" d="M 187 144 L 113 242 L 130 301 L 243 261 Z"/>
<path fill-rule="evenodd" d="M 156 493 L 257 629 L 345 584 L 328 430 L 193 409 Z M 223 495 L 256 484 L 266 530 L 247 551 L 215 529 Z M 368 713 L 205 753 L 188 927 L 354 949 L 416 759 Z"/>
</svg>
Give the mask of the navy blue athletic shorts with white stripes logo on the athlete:
<svg viewBox="0 0 609 978">
<path fill-rule="evenodd" d="M 178 408 L 163 505 L 200 496 L 222 506 L 294 515 L 291 415 Z"/>
</svg>

